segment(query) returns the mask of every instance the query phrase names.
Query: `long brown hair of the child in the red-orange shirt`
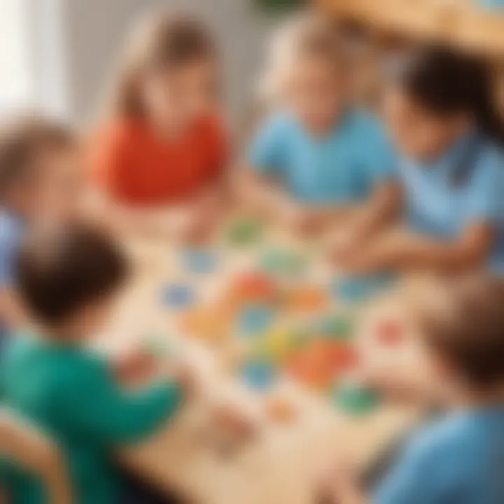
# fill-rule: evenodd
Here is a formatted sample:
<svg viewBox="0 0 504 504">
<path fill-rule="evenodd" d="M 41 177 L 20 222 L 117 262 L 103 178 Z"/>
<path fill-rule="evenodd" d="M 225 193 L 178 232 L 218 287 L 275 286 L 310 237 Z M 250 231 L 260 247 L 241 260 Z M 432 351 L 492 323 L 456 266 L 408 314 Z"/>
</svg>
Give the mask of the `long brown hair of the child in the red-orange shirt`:
<svg viewBox="0 0 504 504">
<path fill-rule="evenodd" d="M 216 56 L 207 27 L 190 15 L 156 13 L 130 39 L 113 88 L 112 112 L 141 116 L 139 85 L 151 71 L 177 69 Z"/>
</svg>

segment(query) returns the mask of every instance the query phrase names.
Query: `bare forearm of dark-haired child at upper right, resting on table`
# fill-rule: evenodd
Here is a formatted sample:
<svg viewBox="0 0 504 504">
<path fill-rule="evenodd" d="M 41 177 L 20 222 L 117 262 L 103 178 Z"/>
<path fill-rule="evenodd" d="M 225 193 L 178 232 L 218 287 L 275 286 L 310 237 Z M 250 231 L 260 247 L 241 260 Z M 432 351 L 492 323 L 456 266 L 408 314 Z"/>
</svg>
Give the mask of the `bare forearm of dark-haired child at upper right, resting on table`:
<svg viewBox="0 0 504 504">
<path fill-rule="evenodd" d="M 410 236 L 400 241 L 377 243 L 356 252 L 342 263 L 353 271 L 377 269 L 440 269 L 456 272 L 482 265 L 494 239 L 485 223 L 472 223 L 461 237 L 451 241 Z"/>
</svg>

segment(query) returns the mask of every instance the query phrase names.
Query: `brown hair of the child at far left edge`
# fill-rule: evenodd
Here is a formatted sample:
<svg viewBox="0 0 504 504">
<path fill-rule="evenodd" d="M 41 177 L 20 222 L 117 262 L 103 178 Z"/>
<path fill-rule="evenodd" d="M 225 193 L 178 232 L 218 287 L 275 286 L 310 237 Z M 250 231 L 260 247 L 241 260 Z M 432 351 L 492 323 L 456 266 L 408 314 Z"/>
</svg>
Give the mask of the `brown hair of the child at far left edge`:
<svg viewBox="0 0 504 504">
<path fill-rule="evenodd" d="M 52 148 L 71 146 L 68 127 L 39 116 L 15 118 L 0 131 L 0 200 L 8 190 L 36 169 L 38 155 Z"/>
</svg>

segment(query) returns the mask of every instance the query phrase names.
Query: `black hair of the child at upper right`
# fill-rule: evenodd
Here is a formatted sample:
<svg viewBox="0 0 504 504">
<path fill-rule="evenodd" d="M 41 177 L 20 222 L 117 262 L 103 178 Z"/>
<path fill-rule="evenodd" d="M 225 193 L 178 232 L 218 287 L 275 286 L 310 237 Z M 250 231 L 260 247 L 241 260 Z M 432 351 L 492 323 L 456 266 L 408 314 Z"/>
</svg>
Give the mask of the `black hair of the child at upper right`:
<svg viewBox="0 0 504 504">
<path fill-rule="evenodd" d="M 423 47 L 405 57 L 397 77 L 402 88 L 429 111 L 439 116 L 470 113 L 479 130 L 504 144 L 504 123 L 484 59 L 450 48 Z"/>
</svg>

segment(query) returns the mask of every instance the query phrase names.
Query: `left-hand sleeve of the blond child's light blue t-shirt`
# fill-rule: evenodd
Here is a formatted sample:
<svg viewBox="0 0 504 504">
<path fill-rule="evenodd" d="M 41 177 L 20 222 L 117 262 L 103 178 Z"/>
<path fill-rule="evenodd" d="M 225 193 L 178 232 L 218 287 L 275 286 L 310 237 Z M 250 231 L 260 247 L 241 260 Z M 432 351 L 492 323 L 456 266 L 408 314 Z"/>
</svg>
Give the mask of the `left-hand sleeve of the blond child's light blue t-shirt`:
<svg viewBox="0 0 504 504">
<path fill-rule="evenodd" d="M 285 169 L 286 121 L 271 118 L 260 127 L 248 151 L 248 163 L 260 174 L 281 176 Z"/>
</svg>

